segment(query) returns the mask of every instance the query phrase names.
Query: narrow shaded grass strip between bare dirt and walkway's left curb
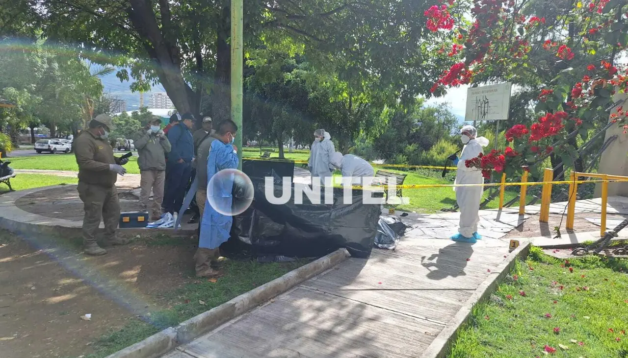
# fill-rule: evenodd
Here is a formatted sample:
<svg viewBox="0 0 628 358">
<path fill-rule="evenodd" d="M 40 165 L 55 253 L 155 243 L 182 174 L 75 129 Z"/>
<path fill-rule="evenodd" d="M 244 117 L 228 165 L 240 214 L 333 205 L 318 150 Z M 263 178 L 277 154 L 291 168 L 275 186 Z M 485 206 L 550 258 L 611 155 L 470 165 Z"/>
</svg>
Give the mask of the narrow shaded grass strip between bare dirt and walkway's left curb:
<svg viewBox="0 0 628 358">
<path fill-rule="evenodd" d="M 199 280 L 198 283 L 191 283 L 179 290 L 166 293 L 170 309 L 152 312 L 148 322 L 133 319 L 122 329 L 100 337 L 92 344 L 96 352 L 87 355 L 86 358 L 106 357 L 162 329 L 174 327 L 184 320 L 270 282 L 305 263 L 306 261 L 292 263 L 229 261 L 224 266 L 225 276 L 219 278 L 217 282 Z M 189 275 L 193 273 L 190 272 Z"/>
</svg>

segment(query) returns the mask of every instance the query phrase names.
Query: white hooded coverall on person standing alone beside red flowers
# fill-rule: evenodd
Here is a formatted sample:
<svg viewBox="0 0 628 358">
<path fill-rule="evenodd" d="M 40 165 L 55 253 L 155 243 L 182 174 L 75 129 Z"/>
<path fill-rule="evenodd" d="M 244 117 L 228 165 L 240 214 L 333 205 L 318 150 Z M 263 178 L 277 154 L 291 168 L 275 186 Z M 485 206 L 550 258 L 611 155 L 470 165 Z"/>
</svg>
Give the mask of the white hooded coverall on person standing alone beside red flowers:
<svg viewBox="0 0 628 358">
<path fill-rule="evenodd" d="M 482 171 L 477 168 L 468 168 L 465 166 L 465 161 L 474 159 L 480 153 L 484 153 L 482 147 L 487 145 L 489 145 L 488 139 L 477 137 L 469 140 L 462 148 L 454 184 L 484 184 Z M 471 238 L 473 233 L 477 232 L 477 223 L 480 222 L 480 201 L 482 200 L 484 187 L 460 186 L 453 187 L 453 190 L 456 192 L 456 201 L 460 208 L 460 228 L 458 228 L 458 233 L 465 236 L 465 238 Z"/>
</svg>

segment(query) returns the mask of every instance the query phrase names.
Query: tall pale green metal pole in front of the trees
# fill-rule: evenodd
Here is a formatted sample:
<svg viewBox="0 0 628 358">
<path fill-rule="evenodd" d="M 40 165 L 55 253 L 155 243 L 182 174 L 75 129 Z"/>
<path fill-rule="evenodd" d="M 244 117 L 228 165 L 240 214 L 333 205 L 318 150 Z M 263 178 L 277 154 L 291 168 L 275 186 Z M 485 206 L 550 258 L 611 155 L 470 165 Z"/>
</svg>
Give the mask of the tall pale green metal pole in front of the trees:
<svg viewBox="0 0 628 358">
<path fill-rule="evenodd" d="M 242 132 L 244 131 L 242 128 L 242 58 L 244 58 L 242 3 L 242 0 L 231 0 L 231 118 L 238 127 L 235 144 L 238 148 L 240 170 L 242 170 Z"/>
</svg>

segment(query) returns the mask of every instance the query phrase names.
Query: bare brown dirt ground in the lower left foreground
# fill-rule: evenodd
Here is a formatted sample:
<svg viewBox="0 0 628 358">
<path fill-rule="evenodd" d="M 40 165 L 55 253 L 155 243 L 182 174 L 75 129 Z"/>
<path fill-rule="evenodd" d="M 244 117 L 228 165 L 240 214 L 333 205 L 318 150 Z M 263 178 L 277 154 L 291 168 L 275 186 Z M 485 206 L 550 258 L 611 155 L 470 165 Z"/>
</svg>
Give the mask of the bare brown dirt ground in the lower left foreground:
<svg viewBox="0 0 628 358">
<path fill-rule="evenodd" d="M 40 238 L 25 239 L 0 231 L 2 358 L 90 354 L 100 335 L 161 308 L 161 294 L 194 280 L 192 240 L 135 243 L 87 258 L 73 250 L 37 250 L 46 246 Z M 91 320 L 80 319 L 85 313 Z"/>
</svg>

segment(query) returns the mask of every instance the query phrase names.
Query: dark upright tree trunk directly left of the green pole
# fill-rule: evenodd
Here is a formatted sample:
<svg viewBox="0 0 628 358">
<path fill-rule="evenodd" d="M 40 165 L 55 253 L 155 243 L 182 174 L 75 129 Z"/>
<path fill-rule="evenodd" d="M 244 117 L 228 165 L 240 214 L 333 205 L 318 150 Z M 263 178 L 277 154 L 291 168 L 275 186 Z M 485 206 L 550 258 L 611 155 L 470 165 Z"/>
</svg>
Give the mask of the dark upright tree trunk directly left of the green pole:
<svg viewBox="0 0 628 358">
<path fill-rule="evenodd" d="M 229 1 L 222 2 L 221 21 L 216 24 L 216 71 L 212 88 L 212 117 L 215 123 L 231 118 L 231 48 L 227 43 L 231 36 L 229 5 Z"/>
</svg>

